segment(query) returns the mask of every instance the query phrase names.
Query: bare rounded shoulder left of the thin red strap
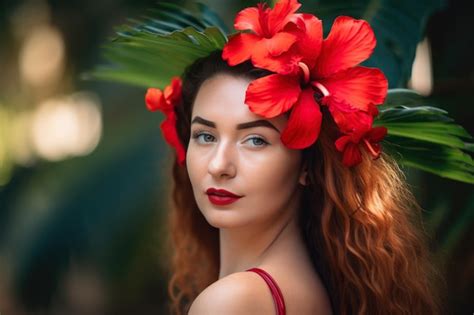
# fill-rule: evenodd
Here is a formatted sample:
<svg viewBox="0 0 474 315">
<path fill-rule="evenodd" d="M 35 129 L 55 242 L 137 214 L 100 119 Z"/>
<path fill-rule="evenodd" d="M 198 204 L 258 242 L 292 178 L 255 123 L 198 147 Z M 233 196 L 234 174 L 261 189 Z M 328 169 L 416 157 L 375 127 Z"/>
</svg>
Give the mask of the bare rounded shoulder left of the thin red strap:
<svg viewBox="0 0 474 315">
<path fill-rule="evenodd" d="M 194 300 L 189 315 L 275 314 L 266 283 L 253 272 L 236 272 L 208 286 Z"/>
</svg>

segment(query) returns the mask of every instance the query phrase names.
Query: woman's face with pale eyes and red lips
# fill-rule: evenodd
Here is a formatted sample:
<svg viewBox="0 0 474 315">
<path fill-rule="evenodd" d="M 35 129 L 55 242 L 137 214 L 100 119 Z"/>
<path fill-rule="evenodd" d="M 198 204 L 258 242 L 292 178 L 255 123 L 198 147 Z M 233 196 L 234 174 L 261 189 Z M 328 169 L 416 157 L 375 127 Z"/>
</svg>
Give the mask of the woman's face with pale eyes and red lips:
<svg viewBox="0 0 474 315">
<path fill-rule="evenodd" d="M 280 140 L 287 118 L 252 113 L 244 104 L 249 82 L 217 74 L 202 84 L 193 106 L 187 169 L 199 209 L 217 228 L 277 220 L 298 206 L 304 183 L 301 151 Z"/>
</svg>

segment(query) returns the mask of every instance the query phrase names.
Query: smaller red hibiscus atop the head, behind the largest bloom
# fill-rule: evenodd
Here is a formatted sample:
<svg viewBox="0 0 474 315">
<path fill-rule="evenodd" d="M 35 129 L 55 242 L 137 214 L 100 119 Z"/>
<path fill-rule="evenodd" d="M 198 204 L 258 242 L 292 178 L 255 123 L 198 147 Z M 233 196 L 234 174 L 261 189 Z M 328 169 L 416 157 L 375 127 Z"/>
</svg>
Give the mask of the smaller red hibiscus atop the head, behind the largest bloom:
<svg viewBox="0 0 474 315">
<path fill-rule="evenodd" d="M 224 46 L 222 58 L 231 66 L 250 59 L 256 67 L 274 72 L 297 70 L 299 56 L 286 52 L 297 42 L 298 35 L 294 30 L 287 30 L 286 26 L 290 22 L 301 24 L 298 21 L 301 15 L 295 14 L 300 6 L 297 0 L 282 0 L 273 9 L 260 3 L 257 7 L 240 11 L 234 27 L 251 33 L 231 37 Z"/>
</svg>

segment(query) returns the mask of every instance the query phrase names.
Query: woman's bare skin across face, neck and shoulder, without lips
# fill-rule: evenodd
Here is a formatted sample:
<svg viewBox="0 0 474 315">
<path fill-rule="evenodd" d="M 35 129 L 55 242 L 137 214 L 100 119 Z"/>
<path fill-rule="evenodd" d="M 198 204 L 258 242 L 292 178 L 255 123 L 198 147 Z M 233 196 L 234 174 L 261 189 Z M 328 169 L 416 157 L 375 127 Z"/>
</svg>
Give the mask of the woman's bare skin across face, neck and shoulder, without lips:
<svg viewBox="0 0 474 315">
<path fill-rule="evenodd" d="M 301 151 L 280 140 L 285 116 L 262 119 L 248 109 L 249 82 L 217 74 L 203 83 L 193 106 L 187 169 L 200 211 L 219 228 L 220 270 L 189 314 L 274 314 L 266 283 L 245 272 L 251 267 L 276 280 L 287 314 L 330 314 L 297 226 L 306 178 Z M 259 125 L 242 126 L 254 121 Z M 206 194 L 210 187 L 243 197 L 217 206 Z"/>
</svg>

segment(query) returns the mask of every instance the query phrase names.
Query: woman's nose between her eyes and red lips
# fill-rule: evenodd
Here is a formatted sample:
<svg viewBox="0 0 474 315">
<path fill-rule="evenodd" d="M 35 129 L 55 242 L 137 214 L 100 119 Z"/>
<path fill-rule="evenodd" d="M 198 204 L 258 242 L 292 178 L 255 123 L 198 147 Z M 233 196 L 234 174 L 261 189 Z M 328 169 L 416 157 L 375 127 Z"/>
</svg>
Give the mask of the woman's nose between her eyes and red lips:
<svg viewBox="0 0 474 315">
<path fill-rule="evenodd" d="M 208 165 L 208 172 L 216 179 L 233 178 L 236 175 L 235 148 L 229 142 L 220 142 Z"/>
</svg>

